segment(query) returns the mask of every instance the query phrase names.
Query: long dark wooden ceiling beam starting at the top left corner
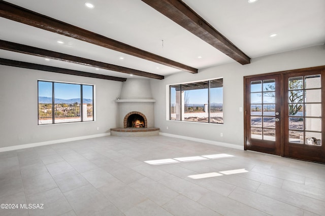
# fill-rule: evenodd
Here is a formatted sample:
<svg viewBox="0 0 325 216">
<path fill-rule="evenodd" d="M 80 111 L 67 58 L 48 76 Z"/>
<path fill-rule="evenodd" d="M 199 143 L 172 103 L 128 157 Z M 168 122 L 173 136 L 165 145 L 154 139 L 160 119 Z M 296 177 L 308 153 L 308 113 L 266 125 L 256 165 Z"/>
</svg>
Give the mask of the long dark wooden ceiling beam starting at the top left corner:
<svg viewBox="0 0 325 216">
<path fill-rule="evenodd" d="M 95 44 L 118 52 L 133 55 L 159 64 L 164 64 L 190 73 L 198 73 L 197 68 L 155 55 L 153 53 L 129 46 L 104 37 L 103 35 L 79 28 L 77 26 L 44 16 L 19 6 L 0 1 L 0 16 L 17 22 L 52 31 L 84 42 Z"/>
</svg>

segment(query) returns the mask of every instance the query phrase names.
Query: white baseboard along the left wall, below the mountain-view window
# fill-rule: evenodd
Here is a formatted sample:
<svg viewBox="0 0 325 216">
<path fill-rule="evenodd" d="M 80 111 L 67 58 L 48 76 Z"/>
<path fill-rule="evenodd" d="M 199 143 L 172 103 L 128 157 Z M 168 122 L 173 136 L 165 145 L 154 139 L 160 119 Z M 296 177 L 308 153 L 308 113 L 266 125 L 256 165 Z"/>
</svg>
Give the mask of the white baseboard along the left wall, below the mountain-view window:
<svg viewBox="0 0 325 216">
<path fill-rule="evenodd" d="M 61 143 L 61 142 L 70 142 L 70 141 L 90 139 L 90 138 L 110 136 L 110 135 L 111 135 L 111 133 L 100 133 L 100 134 L 94 134 L 94 135 L 88 135 L 88 136 L 78 136 L 78 137 L 72 137 L 72 138 L 66 138 L 66 139 L 49 140 L 49 141 L 45 141 L 45 142 L 28 143 L 28 144 L 18 145 L 18 146 L 3 147 L 3 148 L 0 148 L 0 152 L 7 152 L 7 151 L 12 151 L 12 150 L 26 149 L 26 148 L 38 147 L 38 146 L 46 146 L 46 145 L 52 145 L 52 144 Z"/>
</svg>

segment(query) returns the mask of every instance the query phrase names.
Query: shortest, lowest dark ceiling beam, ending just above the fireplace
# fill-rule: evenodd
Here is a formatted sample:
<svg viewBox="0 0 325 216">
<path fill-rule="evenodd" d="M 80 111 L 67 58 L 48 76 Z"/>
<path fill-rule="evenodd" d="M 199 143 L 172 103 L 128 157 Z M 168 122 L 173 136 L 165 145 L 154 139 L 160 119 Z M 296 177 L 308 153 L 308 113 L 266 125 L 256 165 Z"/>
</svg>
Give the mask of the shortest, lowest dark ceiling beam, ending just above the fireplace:
<svg viewBox="0 0 325 216">
<path fill-rule="evenodd" d="M 33 63 L 9 60 L 9 59 L 4 59 L 4 58 L 0 58 L 0 64 L 7 65 L 7 66 L 13 66 L 13 67 L 21 67 L 21 68 L 49 71 L 49 72 L 54 72 L 54 73 L 59 73 L 59 74 L 75 75 L 75 76 L 81 76 L 81 77 L 90 77 L 90 78 L 97 78 L 97 79 L 104 79 L 104 80 L 114 80 L 114 81 L 120 81 L 120 82 L 126 81 L 126 78 L 112 77 L 112 76 L 106 76 L 106 75 L 101 75 L 101 74 L 92 74 L 92 73 L 87 73 L 87 72 L 78 71 L 78 70 L 70 70 L 70 69 L 65 69 L 65 68 L 60 68 L 60 67 L 52 67 L 52 66 L 41 65 L 41 64 L 33 64 Z"/>
</svg>

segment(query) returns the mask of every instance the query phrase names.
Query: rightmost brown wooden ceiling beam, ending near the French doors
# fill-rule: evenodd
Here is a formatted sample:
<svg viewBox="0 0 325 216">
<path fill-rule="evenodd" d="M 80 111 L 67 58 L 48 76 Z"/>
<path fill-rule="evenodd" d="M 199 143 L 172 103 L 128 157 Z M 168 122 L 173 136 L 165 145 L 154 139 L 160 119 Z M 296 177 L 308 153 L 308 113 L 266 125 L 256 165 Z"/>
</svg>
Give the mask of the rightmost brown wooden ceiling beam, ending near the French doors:
<svg viewBox="0 0 325 216">
<path fill-rule="evenodd" d="M 142 2 L 148 4 L 161 14 L 164 14 L 239 63 L 250 63 L 250 58 L 245 53 L 181 0 L 142 0 Z"/>
</svg>

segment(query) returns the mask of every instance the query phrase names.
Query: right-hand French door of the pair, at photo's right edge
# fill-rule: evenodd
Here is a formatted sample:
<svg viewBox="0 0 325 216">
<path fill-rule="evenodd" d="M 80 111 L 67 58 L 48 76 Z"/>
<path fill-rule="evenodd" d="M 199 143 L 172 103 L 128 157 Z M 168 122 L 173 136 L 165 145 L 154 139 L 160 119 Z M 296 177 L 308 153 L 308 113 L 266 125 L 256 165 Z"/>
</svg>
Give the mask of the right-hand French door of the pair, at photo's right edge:
<svg viewBox="0 0 325 216">
<path fill-rule="evenodd" d="M 284 74 L 285 157 L 325 163 L 324 70 Z"/>
</svg>

